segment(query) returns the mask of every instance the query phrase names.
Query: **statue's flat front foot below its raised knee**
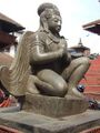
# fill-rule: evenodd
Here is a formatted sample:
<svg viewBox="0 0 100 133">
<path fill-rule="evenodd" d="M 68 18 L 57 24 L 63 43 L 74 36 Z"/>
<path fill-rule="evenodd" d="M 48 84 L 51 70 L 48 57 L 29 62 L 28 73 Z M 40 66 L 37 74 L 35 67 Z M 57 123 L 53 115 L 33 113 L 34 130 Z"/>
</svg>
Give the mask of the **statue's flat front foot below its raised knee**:
<svg viewBox="0 0 100 133">
<path fill-rule="evenodd" d="M 83 93 L 80 93 L 76 88 L 69 89 L 68 94 L 76 98 L 84 98 Z"/>
</svg>

